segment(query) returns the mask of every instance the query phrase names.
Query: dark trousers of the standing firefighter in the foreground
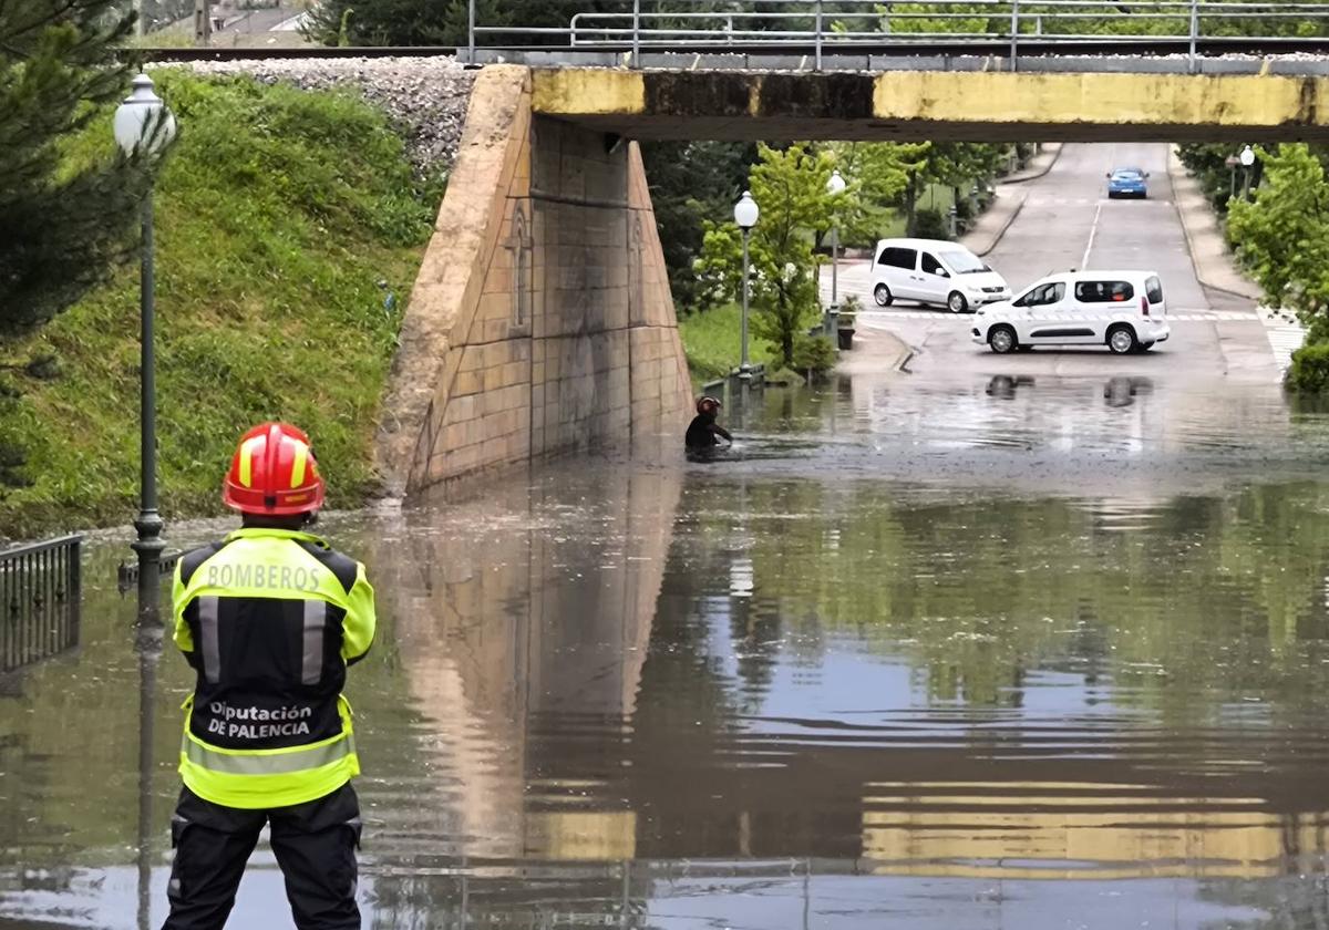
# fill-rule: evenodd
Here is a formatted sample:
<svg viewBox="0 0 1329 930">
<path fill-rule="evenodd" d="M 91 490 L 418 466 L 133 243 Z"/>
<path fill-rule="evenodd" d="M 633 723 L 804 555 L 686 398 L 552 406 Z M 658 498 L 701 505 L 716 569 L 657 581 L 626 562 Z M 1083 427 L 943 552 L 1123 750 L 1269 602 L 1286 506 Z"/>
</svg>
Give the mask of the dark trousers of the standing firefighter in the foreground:
<svg viewBox="0 0 1329 930">
<path fill-rule="evenodd" d="M 245 864 L 263 824 L 286 878 L 299 930 L 360 930 L 355 903 L 355 850 L 360 802 L 350 784 L 331 794 L 271 810 L 205 801 L 185 788 L 171 817 L 170 917 L 162 930 L 222 930 L 235 903 Z"/>
</svg>

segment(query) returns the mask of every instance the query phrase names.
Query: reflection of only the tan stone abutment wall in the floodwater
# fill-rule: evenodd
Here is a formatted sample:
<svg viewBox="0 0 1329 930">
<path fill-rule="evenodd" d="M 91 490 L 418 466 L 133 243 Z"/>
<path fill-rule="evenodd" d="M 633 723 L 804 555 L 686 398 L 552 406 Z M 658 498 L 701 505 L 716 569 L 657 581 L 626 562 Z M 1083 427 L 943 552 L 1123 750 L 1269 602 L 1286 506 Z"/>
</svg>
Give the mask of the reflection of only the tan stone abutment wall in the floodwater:
<svg viewBox="0 0 1329 930">
<path fill-rule="evenodd" d="M 587 485 L 585 506 L 508 484 L 498 492 L 508 500 L 449 505 L 449 521 L 473 514 L 474 533 L 412 531 L 405 551 L 376 559 L 423 717 L 431 773 L 420 789 L 443 801 L 403 810 L 411 822 L 389 828 L 392 848 L 427 846 L 490 870 L 526 858 L 635 854 L 631 809 L 587 805 L 594 776 L 532 753 L 552 717 L 617 720 L 627 739 L 679 476 L 606 481 Z M 582 521 L 586 531 L 569 530 Z M 590 736 L 601 744 L 598 731 Z"/>
</svg>

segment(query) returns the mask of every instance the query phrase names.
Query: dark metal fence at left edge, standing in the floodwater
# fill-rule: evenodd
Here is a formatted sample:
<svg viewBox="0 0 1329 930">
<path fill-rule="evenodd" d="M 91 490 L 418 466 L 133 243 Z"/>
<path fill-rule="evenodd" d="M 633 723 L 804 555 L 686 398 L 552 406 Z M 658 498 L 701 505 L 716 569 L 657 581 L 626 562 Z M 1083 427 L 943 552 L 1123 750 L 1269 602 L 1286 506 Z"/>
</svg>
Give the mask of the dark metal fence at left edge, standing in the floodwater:
<svg viewBox="0 0 1329 930">
<path fill-rule="evenodd" d="M 82 537 L 0 553 L 0 674 L 78 642 Z"/>
</svg>

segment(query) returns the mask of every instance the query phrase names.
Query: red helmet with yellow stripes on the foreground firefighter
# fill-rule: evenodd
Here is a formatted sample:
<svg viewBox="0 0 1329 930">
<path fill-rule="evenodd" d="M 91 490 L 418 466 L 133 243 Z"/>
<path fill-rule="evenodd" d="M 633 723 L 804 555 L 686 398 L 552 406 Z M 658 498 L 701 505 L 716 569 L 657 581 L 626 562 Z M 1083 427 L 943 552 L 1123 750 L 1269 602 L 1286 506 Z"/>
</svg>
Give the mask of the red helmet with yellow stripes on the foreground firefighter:
<svg viewBox="0 0 1329 930">
<path fill-rule="evenodd" d="M 310 437 L 286 422 L 264 422 L 241 437 L 222 485 L 226 506 L 241 513 L 291 517 L 323 506 Z"/>
</svg>

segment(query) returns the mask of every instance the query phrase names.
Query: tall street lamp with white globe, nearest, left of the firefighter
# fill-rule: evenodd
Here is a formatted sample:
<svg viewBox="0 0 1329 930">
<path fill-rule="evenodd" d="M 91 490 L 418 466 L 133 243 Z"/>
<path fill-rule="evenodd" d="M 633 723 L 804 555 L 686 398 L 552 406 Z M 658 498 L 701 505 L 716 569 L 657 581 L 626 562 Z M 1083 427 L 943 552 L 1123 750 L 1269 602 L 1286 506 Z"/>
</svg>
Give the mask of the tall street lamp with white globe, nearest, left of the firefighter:
<svg viewBox="0 0 1329 930">
<path fill-rule="evenodd" d="M 146 74 L 134 78 L 133 92 L 116 110 L 116 142 L 126 155 L 155 155 L 175 136 L 175 117 L 153 93 L 153 80 Z M 140 454 L 142 466 L 141 500 L 132 543 L 138 554 L 138 622 L 159 622 L 162 518 L 157 512 L 157 383 L 153 355 L 153 194 L 149 189 L 142 209 L 142 275 L 138 290 L 140 336 Z"/>
</svg>

